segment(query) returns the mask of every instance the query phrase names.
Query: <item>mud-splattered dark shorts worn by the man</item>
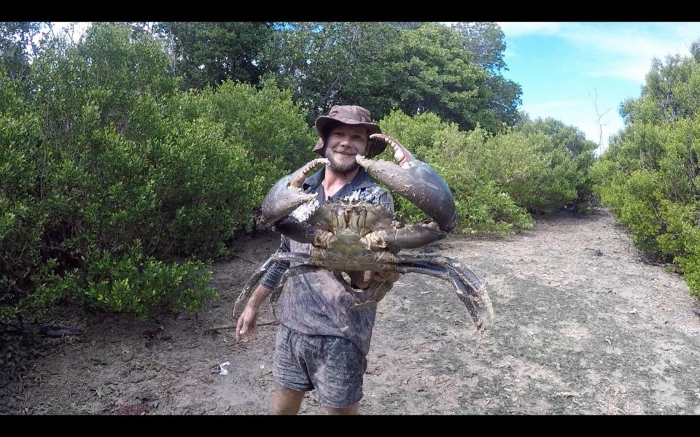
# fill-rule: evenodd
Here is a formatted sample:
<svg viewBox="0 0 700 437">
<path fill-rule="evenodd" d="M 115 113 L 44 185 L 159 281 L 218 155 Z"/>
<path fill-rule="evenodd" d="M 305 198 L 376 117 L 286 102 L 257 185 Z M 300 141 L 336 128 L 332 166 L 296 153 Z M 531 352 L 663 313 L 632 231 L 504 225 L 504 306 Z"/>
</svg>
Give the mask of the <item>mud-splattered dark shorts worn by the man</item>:
<svg viewBox="0 0 700 437">
<path fill-rule="evenodd" d="M 348 339 L 277 329 L 272 376 L 297 392 L 315 389 L 323 406 L 346 408 L 362 399 L 367 359 Z"/>
</svg>

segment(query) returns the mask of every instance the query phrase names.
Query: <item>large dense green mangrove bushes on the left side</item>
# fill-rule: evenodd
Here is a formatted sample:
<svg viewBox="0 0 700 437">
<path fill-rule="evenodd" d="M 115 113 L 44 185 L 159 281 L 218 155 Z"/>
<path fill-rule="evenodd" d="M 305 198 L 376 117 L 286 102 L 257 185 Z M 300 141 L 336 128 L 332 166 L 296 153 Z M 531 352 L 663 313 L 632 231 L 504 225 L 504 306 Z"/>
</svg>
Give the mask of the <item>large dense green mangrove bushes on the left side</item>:
<svg viewBox="0 0 700 437">
<path fill-rule="evenodd" d="M 306 161 L 265 159 L 313 143 L 290 94 L 233 83 L 182 93 L 168 65 L 151 36 L 95 24 L 82 43 L 45 46 L 31 95 L 0 74 L 6 316 L 60 301 L 193 313 L 216 296 L 207 261 Z"/>
</svg>

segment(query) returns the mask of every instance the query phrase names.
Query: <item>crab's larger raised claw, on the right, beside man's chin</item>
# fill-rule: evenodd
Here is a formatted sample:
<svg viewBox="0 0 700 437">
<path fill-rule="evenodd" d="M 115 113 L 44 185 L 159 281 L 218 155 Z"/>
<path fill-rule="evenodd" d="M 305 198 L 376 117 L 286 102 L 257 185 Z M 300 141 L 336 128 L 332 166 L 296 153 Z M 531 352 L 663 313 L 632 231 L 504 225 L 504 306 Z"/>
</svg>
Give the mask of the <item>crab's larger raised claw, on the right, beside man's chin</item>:
<svg viewBox="0 0 700 437">
<path fill-rule="evenodd" d="M 383 182 L 391 192 L 405 197 L 435 220 L 442 231 L 451 232 L 457 225 L 457 211 L 454 196 L 440 175 L 390 136 L 372 134 L 370 138 L 377 138 L 390 145 L 397 164 L 357 155 L 358 164 Z"/>
</svg>

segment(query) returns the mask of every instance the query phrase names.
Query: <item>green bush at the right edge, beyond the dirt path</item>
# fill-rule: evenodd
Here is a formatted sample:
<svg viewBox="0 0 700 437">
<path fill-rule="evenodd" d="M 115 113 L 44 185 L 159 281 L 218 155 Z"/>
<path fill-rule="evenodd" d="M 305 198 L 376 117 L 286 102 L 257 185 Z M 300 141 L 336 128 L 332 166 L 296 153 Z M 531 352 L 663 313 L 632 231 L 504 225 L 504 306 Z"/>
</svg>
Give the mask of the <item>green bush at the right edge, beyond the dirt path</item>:
<svg viewBox="0 0 700 437">
<path fill-rule="evenodd" d="M 601 201 L 650 259 L 676 263 L 700 298 L 700 45 L 654 59 L 638 99 L 621 107 L 625 129 L 591 174 Z"/>
</svg>

